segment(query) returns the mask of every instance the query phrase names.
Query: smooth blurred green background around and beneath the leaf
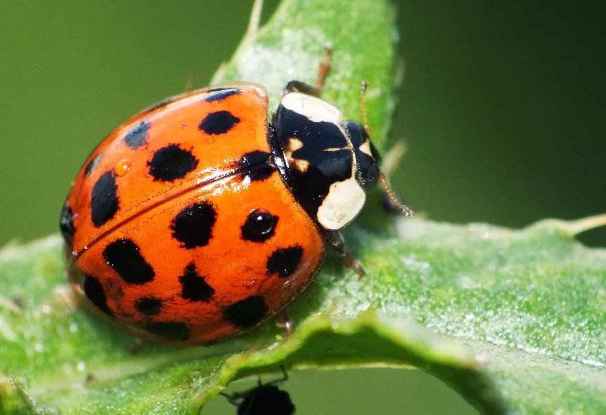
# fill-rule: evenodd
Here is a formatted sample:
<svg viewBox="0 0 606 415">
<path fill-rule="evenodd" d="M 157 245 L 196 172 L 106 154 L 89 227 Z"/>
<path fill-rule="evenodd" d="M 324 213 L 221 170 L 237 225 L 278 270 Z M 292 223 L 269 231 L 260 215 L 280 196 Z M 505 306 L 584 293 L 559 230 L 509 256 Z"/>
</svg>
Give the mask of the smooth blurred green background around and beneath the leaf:
<svg viewBox="0 0 606 415">
<path fill-rule="evenodd" d="M 396 4 L 406 71 L 392 138 L 408 145 L 398 193 L 448 222 L 606 213 L 606 2 L 445 3 Z M 192 74 L 206 85 L 250 6 L 1 2 L 0 245 L 55 233 L 94 145 Z M 606 246 L 606 231 L 580 239 Z M 294 372 L 285 387 L 301 414 L 473 413 L 419 371 Z M 234 412 L 215 401 L 206 413 Z"/>
</svg>

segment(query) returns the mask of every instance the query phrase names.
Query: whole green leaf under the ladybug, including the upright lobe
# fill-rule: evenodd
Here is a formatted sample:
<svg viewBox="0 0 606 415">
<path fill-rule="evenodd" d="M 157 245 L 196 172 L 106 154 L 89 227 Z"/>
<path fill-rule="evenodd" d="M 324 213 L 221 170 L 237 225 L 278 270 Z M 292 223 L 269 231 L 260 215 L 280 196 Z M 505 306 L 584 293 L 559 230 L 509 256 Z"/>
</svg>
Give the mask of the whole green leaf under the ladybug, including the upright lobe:
<svg viewBox="0 0 606 415">
<path fill-rule="evenodd" d="M 323 98 L 360 119 L 368 81 L 385 150 L 395 36 L 387 1 L 285 0 L 213 83 L 262 83 L 276 103 L 291 78 L 314 82 L 332 45 Z M 290 337 L 271 319 L 210 347 L 133 355 L 136 339 L 70 304 L 60 237 L 4 248 L 0 414 L 197 414 L 231 381 L 280 365 L 414 365 L 486 414 L 606 412 L 606 250 L 574 240 L 605 217 L 510 231 L 394 220 L 369 205 L 345 232 L 367 275 L 329 257 L 289 306 Z"/>
</svg>

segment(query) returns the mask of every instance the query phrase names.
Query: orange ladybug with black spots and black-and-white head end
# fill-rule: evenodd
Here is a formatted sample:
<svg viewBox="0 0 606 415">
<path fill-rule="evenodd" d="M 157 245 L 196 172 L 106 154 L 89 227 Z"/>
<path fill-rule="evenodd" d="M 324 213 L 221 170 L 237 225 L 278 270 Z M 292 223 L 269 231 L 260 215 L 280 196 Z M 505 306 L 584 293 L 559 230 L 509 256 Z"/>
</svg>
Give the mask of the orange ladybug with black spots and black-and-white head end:
<svg viewBox="0 0 606 415">
<path fill-rule="evenodd" d="M 268 122 L 261 85 L 199 89 L 109 134 L 61 213 L 81 301 L 141 339 L 214 343 L 345 255 L 338 231 L 387 184 L 367 129 L 318 92 L 291 81 Z"/>
</svg>

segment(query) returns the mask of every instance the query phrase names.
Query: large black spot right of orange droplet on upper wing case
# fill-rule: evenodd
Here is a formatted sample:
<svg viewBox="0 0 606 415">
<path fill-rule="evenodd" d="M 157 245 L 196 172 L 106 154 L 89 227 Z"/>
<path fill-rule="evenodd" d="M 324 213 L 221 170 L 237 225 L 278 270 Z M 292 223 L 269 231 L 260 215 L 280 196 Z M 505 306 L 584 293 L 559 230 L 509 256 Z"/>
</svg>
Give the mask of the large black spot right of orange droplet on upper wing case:
<svg viewBox="0 0 606 415">
<path fill-rule="evenodd" d="M 198 160 L 191 151 L 184 150 L 176 144 L 171 144 L 155 151 L 153 158 L 147 162 L 147 165 L 153 180 L 172 182 L 184 178 L 187 173 L 195 169 Z"/>
</svg>

